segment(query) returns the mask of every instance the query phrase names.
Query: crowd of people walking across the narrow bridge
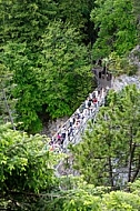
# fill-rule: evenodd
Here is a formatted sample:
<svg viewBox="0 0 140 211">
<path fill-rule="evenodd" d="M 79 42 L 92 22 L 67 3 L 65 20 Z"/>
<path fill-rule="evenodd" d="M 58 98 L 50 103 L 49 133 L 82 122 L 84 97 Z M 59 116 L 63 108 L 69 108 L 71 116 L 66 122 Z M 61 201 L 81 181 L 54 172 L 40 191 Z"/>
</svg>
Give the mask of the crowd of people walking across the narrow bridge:
<svg viewBox="0 0 140 211">
<path fill-rule="evenodd" d="M 94 90 L 88 96 L 86 101 L 77 109 L 70 119 L 60 128 L 49 142 L 50 151 L 64 151 L 70 142 L 73 142 L 74 135 L 84 125 L 89 117 L 92 117 L 94 110 L 104 100 L 106 90 Z"/>
</svg>

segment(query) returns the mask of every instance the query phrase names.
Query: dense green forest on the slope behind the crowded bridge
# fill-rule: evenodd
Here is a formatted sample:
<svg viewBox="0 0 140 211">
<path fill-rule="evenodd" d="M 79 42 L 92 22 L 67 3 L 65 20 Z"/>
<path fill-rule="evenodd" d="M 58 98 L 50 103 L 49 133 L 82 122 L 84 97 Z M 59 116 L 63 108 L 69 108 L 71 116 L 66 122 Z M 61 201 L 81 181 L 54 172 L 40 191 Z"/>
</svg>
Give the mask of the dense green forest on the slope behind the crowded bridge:
<svg viewBox="0 0 140 211">
<path fill-rule="evenodd" d="M 93 64 L 121 60 L 138 43 L 138 7 L 130 0 L 0 1 L 1 86 L 23 130 L 39 132 L 43 119 L 70 115 L 96 86 Z"/>
</svg>

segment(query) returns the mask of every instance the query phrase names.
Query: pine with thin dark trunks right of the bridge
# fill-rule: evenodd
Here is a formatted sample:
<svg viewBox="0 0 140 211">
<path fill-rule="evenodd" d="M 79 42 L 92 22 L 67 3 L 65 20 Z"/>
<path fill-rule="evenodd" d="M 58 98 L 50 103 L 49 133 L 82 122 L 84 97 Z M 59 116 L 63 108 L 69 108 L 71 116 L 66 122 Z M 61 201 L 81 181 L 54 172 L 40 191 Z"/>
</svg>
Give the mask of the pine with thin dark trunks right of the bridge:
<svg viewBox="0 0 140 211">
<path fill-rule="evenodd" d="M 83 141 L 72 149 L 76 168 L 89 183 L 122 188 L 139 177 L 139 108 L 134 86 L 111 92 L 97 123 L 90 123 Z"/>
</svg>

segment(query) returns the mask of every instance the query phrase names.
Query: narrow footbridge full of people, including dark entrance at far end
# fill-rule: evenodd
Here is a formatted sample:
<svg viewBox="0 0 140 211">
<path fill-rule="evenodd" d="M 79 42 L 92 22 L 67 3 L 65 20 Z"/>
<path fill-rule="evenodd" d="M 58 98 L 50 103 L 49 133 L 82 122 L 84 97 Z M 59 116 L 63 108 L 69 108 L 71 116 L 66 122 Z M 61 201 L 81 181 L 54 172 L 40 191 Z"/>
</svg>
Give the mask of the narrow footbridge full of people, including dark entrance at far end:
<svg viewBox="0 0 140 211">
<path fill-rule="evenodd" d="M 50 150 L 67 153 L 70 143 L 78 144 L 81 141 L 88 128 L 88 122 L 96 121 L 100 107 L 104 104 L 108 90 L 112 87 L 112 76 L 104 69 L 94 69 L 92 71 L 98 82 L 98 88 L 89 93 L 86 101 L 51 138 Z M 88 101 L 91 102 L 90 105 L 88 105 Z M 74 122 L 71 120 L 74 120 Z"/>
</svg>

